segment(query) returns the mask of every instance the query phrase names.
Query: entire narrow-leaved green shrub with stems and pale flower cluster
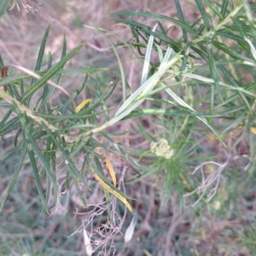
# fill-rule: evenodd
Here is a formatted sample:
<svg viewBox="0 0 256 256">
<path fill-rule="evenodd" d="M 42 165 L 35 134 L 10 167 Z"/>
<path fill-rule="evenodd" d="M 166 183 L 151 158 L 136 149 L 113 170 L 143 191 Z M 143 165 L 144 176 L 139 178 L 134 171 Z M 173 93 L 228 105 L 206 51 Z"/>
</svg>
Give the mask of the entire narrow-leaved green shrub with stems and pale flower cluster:
<svg viewBox="0 0 256 256">
<path fill-rule="evenodd" d="M 5 1 L 7 5 L 3 8 L 3 3 L 0 3 L 0 15 L 3 15 L 8 5 Z M 22 166 L 29 161 L 42 212 L 45 211 L 49 215 L 55 211 L 61 193 L 57 183 L 58 169 L 64 172 L 66 180 L 63 191 L 69 190 L 70 186 L 74 185 L 84 207 L 88 207 L 84 191 L 90 192 L 95 188 L 95 180 L 91 183 L 90 179 L 94 178 L 100 183 L 108 205 L 104 209 L 108 210 L 107 219 L 110 223 L 115 218 L 114 214 L 119 216 L 125 212 L 122 208 L 123 204 L 133 213 L 128 202 L 131 197 L 125 194 L 125 185 L 141 183 L 143 189 L 147 190 L 148 185 L 146 186 L 143 181 L 152 184 L 149 189 L 152 191 L 153 188 L 155 189 L 150 195 L 150 200 L 158 201 L 159 207 L 155 212 L 157 218 L 169 218 L 165 214 L 168 212 L 168 207 L 173 207 L 176 202 L 173 198 L 177 200 L 177 209 L 173 210 L 176 216 L 184 212 L 186 204 L 194 207 L 191 209 L 195 211 L 191 210 L 189 218 L 194 221 L 195 233 L 191 232 L 189 236 L 198 236 L 200 239 L 200 233 L 205 234 L 207 230 L 201 227 L 201 222 L 198 221 L 205 214 L 219 220 L 228 218 L 226 217 L 227 212 L 230 211 L 228 207 L 237 206 L 241 201 L 239 192 L 245 193 L 248 184 L 251 187 L 255 185 L 253 170 L 256 132 L 253 129 L 256 125 L 254 120 L 256 29 L 252 17 L 256 6 L 249 5 L 247 1 L 238 1 L 235 4 L 227 0 L 222 2 L 195 0 L 195 6 L 201 17 L 193 22 L 184 19 L 184 10 L 179 1 L 175 1 L 175 6 L 178 20 L 151 12 L 122 11 L 110 15 L 112 20 L 129 27 L 135 39 L 127 42 L 113 32 L 86 26 L 101 33 L 111 45 L 118 61 L 119 73 L 113 73 L 108 68 L 66 67 L 67 61 L 84 50 L 84 44 L 67 53 L 65 34 L 61 60 L 53 61 L 52 56 L 49 55 L 48 67 L 41 70 L 49 26 L 40 45 L 34 72 L 15 65 L 4 66 L 0 56 L 2 68 L 0 86 L 7 85 L 7 91 L 0 90 L 2 97 L 0 106 L 7 108 L 0 123 L 0 135 L 3 137 L 15 132 L 14 146 L 0 157 L 0 164 L 8 162 L 12 156 L 19 154 L 9 186 L 3 195 L 0 211 L 3 211 L 4 204 L 8 202 L 15 188 Z M 119 16 L 127 18 L 119 18 Z M 137 17 L 154 20 L 156 25 L 153 28 L 146 26 L 138 22 Z M 165 28 L 166 23 L 168 28 Z M 170 37 L 169 32 L 173 26 L 180 31 L 179 38 Z M 117 38 L 120 43 L 114 45 L 105 32 Z M 118 47 L 129 49 L 133 55 L 132 61 L 142 65 L 141 83 L 134 91 L 131 91 L 131 84 L 125 79 L 125 68 L 119 57 Z M 157 58 L 152 57 L 153 53 Z M 5 72 L 8 67 L 20 69 L 23 73 L 7 75 Z M 74 89 L 71 96 L 59 85 L 59 82 L 63 74 L 71 76 L 75 73 L 83 73 L 84 82 L 76 90 Z M 101 84 L 96 78 L 99 74 L 106 77 L 108 74 L 114 74 L 117 79 L 114 84 Z M 119 80 L 122 84 L 122 102 L 119 109 L 115 109 L 113 116 L 110 116 L 109 110 L 113 106 L 108 100 L 113 95 Z M 90 95 L 88 81 L 93 84 L 95 96 L 90 99 L 90 103 L 88 101 L 80 104 L 79 96 L 83 90 L 86 90 L 87 98 Z M 53 105 L 50 99 L 55 94 L 55 90 L 60 90 L 68 97 L 66 102 L 61 103 L 63 99 L 60 99 L 59 105 Z M 78 108 L 76 102 L 79 103 Z M 143 102 L 148 102 L 149 107 L 144 108 Z M 98 119 L 104 119 L 105 122 L 99 124 Z M 106 131 L 108 127 L 122 124 L 129 119 L 137 121 L 138 125 L 132 128 L 143 137 L 144 142 L 148 143 L 148 150 L 142 152 L 141 149 L 116 143 L 112 137 L 119 134 Z M 150 120 L 150 133 L 143 126 L 143 119 Z M 250 137 L 249 145 L 246 143 L 248 137 Z M 211 143 L 215 143 L 216 148 L 213 148 Z M 236 149 L 241 143 L 246 144 L 250 151 L 248 153 L 250 161 L 246 166 L 233 166 L 230 175 L 228 171 L 232 169 Z M 107 155 L 102 154 L 101 150 L 107 152 Z M 134 170 L 139 170 L 139 175 L 136 172 L 129 173 L 129 180 L 125 184 L 124 177 L 121 176 L 115 186 L 115 174 L 108 160 L 108 154 L 122 156 L 134 166 Z M 81 156 L 83 161 L 79 163 Z M 143 161 L 145 159 L 146 161 Z M 104 161 L 112 181 L 103 171 Z M 244 179 L 243 173 L 246 171 L 248 175 Z M 242 180 L 237 187 L 236 178 Z M 51 195 L 54 206 L 49 209 Z M 116 207 L 114 198 L 110 195 L 114 195 L 123 204 Z M 145 202 L 143 207 L 151 209 L 152 204 L 147 205 Z M 93 211 L 89 218 L 90 222 L 100 215 L 97 207 Z M 233 214 L 234 218 L 241 216 L 238 208 Z M 138 220 L 142 222 L 140 217 Z M 114 227 L 117 233 L 122 224 L 124 222 L 119 228 Z M 87 225 L 83 224 L 79 231 L 85 229 Z M 253 242 L 255 232 L 251 225 L 245 224 L 239 229 L 239 231 L 230 230 L 240 239 L 241 246 L 249 245 L 255 251 L 255 242 Z M 169 248 L 166 244 L 163 249 L 157 244 L 156 241 L 161 240 L 162 230 L 165 234 L 171 232 L 167 230 L 166 224 L 151 229 L 152 233 L 149 232 L 148 237 L 152 242 L 142 245 L 138 241 L 135 244 L 137 255 L 142 255 L 143 252 L 154 253 L 155 250 L 174 252 L 175 247 Z M 115 236 L 112 237 L 111 232 L 107 233 L 113 242 Z M 101 243 L 102 237 L 94 240 L 94 249 L 100 251 L 102 246 L 102 252 L 105 250 L 105 254 L 109 255 L 113 252 L 112 247 L 107 246 L 108 241 L 106 244 Z M 109 237 L 108 239 L 111 240 Z M 229 236 L 227 238 L 227 240 L 231 239 Z M 189 247 L 194 247 L 189 242 Z M 176 244 L 181 255 L 190 255 L 188 247 L 184 247 L 182 241 L 176 241 Z M 221 246 L 219 248 L 222 249 Z M 207 253 L 207 249 L 203 246 L 199 246 L 199 250 L 202 254 Z M 232 253 L 232 250 L 229 248 L 229 253 Z M 127 254 L 128 252 L 134 253 L 132 249 L 129 251 L 127 248 Z M 199 255 L 197 248 L 194 253 Z"/>
</svg>

